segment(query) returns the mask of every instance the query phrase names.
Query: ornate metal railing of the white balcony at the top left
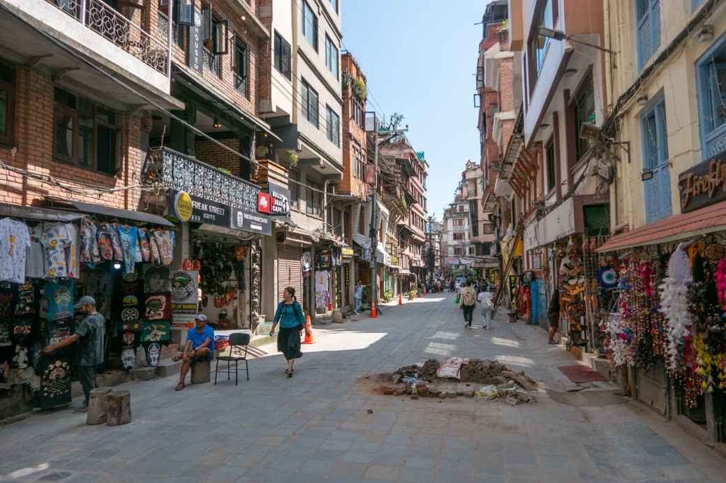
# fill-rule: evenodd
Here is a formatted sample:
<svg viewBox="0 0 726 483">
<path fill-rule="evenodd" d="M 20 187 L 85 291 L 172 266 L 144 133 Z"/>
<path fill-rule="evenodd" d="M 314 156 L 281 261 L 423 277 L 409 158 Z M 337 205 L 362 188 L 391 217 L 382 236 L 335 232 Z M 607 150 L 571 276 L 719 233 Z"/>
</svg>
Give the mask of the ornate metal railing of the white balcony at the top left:
<svg viewBox="0 0 726 483">
<path fill-rule="evenodd" d="M 167 73 L 168 45 L 134 25 L 101 0 L 46 0 L 62 12 L 75 18 L 116 46 L 150 65 L 160 73 Z M 163 36 L 166 38 L 166 34 Z"/>
</svg>

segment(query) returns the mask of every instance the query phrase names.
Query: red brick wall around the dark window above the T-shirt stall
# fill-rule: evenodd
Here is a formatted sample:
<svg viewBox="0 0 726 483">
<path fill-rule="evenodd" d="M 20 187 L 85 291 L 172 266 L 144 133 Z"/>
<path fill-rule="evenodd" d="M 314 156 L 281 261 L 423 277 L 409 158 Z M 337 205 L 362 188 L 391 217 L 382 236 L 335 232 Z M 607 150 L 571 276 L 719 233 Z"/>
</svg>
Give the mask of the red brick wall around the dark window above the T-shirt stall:
<svg viewBox="0 0 726 483">
<path fill-rule="evenodd" d="M 15 168 L 38 175 L 53 176 L 72 191 L 53 184 L 27 179 L 0 169 L 0 202 L 13 205 L 41 205 L 44 197 L 60 197 L 135 210 L 139 189 L 121 190 L 99 195 L 84 193 L 87 185 L 100 189 L 115 189 L 139 183 L 142 168 L 141 117 L 117 115 L 123 146 L 123 165 L 118 176 L 109 176 L 94 170 L 81 168 L 67 162 L 54 160 L 53 156 L 53 83 L 49 77 L 29 67 L 16 67 L 15 87 L 15 146 L 0 146 L 0 161 Z"/>
</svg>

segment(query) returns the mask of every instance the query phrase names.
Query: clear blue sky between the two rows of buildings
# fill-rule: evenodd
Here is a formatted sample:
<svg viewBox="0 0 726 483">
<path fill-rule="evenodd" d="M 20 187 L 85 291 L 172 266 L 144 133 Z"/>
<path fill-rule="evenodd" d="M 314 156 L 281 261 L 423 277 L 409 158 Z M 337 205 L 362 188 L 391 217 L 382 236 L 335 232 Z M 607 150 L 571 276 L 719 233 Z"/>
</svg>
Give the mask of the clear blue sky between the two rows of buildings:
<svg viewBox="0 0 726 483">
<path fill-rule="evenodd" d="M 479 162 L 473 107 L 481 15 L 489 0 L 341 0 L 343 49 L 368 80 L 368 109 L 400 112 L 425 151 L 428 214 L 441 219 L 466 160 Z M 380 107 L 379 107 L 380 106 Z"/>
</svg>

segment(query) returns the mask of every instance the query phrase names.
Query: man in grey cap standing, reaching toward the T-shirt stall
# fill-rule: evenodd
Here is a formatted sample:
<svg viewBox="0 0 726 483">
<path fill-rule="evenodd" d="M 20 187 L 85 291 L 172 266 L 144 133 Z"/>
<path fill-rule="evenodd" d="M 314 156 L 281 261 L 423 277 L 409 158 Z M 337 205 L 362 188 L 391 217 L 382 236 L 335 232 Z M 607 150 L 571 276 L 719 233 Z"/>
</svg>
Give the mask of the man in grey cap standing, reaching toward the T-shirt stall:
<svg viewBox="0 0 726 483">
<path fill-rule="evenodd" d="M 76 366 L 78 368 L 78 382 L 83 387 L 85 400 L 81 405 L 73 408 L 74 413 L 86 413 L 89 410 L 89 393 L 96 388 L 96 366 L 103 363 L 103 344 L 106 338 L 106 321 L 103 315 L 96 311 L 96 300 L 90 295 L 85 295 L 73 306 L 76 312 L 86 314 L 76 324 L 75 333 L 63 339 L 57 344 L 43 348 L 43 352 L 49 354 L 61 347 L 78 342 L 76 348 Z"/>
</svg>

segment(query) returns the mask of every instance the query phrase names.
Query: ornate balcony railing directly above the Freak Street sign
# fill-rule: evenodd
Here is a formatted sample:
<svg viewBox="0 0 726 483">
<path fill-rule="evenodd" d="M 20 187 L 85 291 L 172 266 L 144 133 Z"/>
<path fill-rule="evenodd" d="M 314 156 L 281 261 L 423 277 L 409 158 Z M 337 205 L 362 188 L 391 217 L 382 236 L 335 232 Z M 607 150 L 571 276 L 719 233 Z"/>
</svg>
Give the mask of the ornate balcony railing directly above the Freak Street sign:
<svg viewBox="0 0 726 483">
<path fill-rule="evenodd" d="M 168 148 L 151 149 L 142 181 L 157 187 L 187 191 L 221 205 L 257 211 L 259 186 Z"/>
</svg>

